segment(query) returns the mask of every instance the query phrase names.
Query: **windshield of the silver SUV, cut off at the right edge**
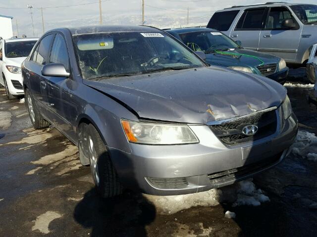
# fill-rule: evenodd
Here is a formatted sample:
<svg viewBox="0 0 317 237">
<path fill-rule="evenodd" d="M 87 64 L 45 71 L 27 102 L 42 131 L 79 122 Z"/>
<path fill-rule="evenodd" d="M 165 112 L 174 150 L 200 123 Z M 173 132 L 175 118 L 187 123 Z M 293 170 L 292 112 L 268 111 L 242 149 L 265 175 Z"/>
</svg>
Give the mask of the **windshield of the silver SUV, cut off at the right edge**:
<svg viewBox="0 0 317 237">
<path fill-rule="evenodd" d="M 311 4 L 291 5 L 291 8 L 303 24 L 305 25 L 317 24 L 317 5 L 311 5 Z"/>
</svg>

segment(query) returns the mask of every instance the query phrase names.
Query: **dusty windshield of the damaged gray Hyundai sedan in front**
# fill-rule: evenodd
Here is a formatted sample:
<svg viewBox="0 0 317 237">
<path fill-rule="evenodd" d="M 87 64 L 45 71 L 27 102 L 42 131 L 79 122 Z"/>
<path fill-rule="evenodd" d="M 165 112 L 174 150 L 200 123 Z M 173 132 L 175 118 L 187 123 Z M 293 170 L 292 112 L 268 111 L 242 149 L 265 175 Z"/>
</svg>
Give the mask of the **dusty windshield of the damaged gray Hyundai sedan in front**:
<svg viewBox="0 0 317 237">
<path fill-rule="evenodd" d="M 193 52 L 162 32 L 101 33 L 73 38 L 85 79 L 204 66 Z"/>
</svg>

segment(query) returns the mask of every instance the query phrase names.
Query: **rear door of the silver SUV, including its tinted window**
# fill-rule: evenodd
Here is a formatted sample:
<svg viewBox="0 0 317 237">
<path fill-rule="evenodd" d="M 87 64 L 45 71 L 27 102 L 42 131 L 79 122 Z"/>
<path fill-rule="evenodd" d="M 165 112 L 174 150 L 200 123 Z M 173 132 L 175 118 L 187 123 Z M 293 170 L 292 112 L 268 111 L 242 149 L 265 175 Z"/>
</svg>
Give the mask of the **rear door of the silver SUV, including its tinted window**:
<svg viewBox="0 0 317 237">
<path fill-rule="evenodd" d="M 240 40 L 242 46 L 258 50 L 261 29 L 266 19 L 267 7 L 245 9 L 230 33 L 232 40 Z"/>
</svg>

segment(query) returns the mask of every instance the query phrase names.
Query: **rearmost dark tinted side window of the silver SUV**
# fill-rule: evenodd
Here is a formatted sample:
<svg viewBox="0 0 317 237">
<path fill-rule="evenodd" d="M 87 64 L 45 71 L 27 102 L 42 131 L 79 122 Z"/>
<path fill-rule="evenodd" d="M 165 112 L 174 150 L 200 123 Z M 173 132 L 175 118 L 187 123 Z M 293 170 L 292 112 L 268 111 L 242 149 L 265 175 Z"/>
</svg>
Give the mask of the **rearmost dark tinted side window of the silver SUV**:
<svg viewBox="0 0 317 237">
<path fill-rule="evenodd" d="M 229 30 L 231 23 L 237 16 L 238 12 L 239 10 L 215 12 L 211 17 L 207 28 L 216 29 L 218 31 Z"/>
</svg>

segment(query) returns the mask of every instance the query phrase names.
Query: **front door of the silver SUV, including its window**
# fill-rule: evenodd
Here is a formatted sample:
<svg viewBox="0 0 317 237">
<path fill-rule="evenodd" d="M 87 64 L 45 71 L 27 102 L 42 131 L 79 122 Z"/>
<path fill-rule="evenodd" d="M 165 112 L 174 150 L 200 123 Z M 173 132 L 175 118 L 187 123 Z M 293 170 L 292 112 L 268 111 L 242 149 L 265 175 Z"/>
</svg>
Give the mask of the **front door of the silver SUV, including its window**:
<svg viewBox="0 0 317 237">
<path fill-rule="evenodd" d="M 292 19 L 294 28 L 283 28 L 282 23 Z M 264 29 L 260 35 L 259 51 L 284 58 L 287 62 L 295 62 L 298 50 L 301 29 L 285 6 L 270 7 L 265 21 Z"/>
</svg>

